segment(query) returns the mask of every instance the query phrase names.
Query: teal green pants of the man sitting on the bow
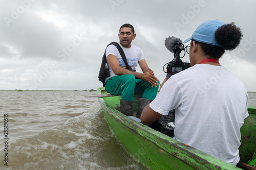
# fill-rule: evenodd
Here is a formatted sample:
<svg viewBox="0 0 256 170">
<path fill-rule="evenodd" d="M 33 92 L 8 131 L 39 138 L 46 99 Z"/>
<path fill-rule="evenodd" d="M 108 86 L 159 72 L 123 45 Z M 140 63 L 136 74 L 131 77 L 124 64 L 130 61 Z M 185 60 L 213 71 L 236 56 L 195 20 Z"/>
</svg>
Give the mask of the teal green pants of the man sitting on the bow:
<svg viewBox="0 0 256 170">
<path fill-rule="evenodd" d="M 122 95 L 124 101 L 133 101 L 134 94 L 143 94 L 142 98 L 154 100 L 159 86 L 152 87 L 150 83 L 129 74 L 110 78 L 106 81 L 105 88 L 111 94 Z"/>
</svg>

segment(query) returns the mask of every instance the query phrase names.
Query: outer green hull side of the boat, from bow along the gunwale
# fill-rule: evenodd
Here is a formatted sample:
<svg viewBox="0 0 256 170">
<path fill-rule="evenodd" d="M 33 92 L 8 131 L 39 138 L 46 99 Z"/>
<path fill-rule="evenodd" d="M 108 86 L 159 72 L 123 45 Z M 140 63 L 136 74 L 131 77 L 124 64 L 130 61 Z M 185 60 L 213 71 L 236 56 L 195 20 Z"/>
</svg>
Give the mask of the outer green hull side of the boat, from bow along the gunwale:
<svg viewBox="0 0 256 170">
<path fill-rule="evenodd" d="M 98 89 L 104 94 L 104 88 Z M 121 96 L 99 98 L 112 132 L 124 149 L 151 169 L 240 169 L 120 113 Z M 138 99 L 135 98 L 135 101 Z M 135 102 L 136 103 L 136 102 Z"/>
</svg>

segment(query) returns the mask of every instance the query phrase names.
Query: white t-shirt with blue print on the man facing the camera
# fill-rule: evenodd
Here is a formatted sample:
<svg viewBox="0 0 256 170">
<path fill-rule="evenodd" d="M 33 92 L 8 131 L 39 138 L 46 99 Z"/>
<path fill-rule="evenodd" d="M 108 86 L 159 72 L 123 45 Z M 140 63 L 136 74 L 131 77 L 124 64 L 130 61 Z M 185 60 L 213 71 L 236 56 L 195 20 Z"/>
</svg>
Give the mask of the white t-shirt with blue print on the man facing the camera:
<svg viewBox="0 0 256 170">
<path fill-rule="evenodd" d="M 138 62 L 145 58 L 142 50 L 140 49 L 140 47 L 132 45 L 130 48 L 125 48 L 120 43 L 119 43 L 119 45 L 122 47 L 123 52 L 125 54 L 125 57 L 127 59 L 127 62 L 130 66 L 132 66 L 132 69 L 135 69 Z M 120 55 L 120 53 L 117 50 L 115 45 L 109 45 L 108 47 L 106 47 L 106 53 L 105 54 L 106 54 L 106 58 L 108 58 L 108 55 L 110 55 L 110 54 L 117 56 L 120 67 L 125 68 L 126 65 L 123 62 L 123 59 L 122 59 L 122 57 L 121 57 L 121 55 Z M 108 60 L 107 60 L 106 63 L 108 64 L 108 67 L 109 67 L 109 70 L 110 70 L 110 77 L 107 77 L 105 79 L 105 82 L 109 78 L 117 76 L 117 75 L 114 74 L 112 68 L 110 67 L 110 64 L 109 64 Z"/>
</svg>

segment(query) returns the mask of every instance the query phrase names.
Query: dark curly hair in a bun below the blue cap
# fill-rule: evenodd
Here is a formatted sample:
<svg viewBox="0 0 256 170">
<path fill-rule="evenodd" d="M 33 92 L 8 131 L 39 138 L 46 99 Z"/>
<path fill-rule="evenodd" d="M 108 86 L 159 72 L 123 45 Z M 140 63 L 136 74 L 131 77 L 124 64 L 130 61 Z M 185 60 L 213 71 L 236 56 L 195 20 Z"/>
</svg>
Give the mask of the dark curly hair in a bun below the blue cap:
<svg viewBox="0 0 256 170">
<path fill-rule="evenodd" d="M 206 44 L 202 42 L 195 41 L 197 44 L 200 44 L 205 55 L 211 58 L 221 58 L 225 53 L 225 50 L 234 50 L 239 44 L 243 37 L 242 31 L 240 28 L 234 25 L 234 22 L 223 25 L 217 29 L 215 32 L 215 39 L 221 44 L 222 47 Z"/>
</svg>

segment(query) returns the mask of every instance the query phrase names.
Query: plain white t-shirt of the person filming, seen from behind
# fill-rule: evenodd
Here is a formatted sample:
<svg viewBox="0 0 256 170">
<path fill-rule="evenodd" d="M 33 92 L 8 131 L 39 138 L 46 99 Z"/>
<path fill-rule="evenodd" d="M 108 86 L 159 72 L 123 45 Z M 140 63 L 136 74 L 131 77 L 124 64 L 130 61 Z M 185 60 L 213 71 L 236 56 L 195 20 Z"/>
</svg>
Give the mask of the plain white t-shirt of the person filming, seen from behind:
<svg viewBox="0 0 256 170">
<path fill-rule="evenodd" d="M 244 84 L 225 67 L 196 64 L 170 77 L 150 107 L 176 109 L 175 139 L 236 165 L 247 104 Z"/>
</svg>

